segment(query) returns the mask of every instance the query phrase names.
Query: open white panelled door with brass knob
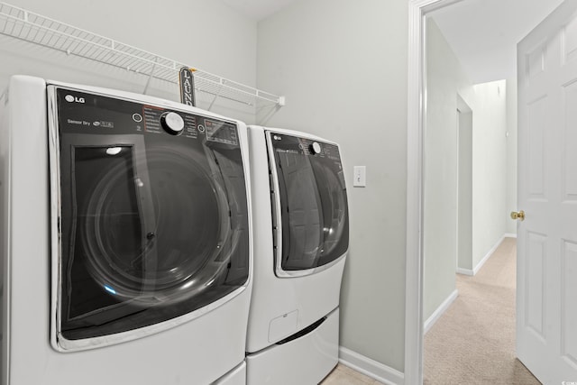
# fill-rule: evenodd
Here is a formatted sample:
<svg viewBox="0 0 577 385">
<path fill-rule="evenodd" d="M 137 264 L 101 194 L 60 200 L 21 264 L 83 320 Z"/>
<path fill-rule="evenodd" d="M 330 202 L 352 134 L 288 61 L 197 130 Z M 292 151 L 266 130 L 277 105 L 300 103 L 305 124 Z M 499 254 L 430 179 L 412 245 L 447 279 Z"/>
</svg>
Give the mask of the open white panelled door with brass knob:
<svg viewBox="0 0 577 385">
<path fill-rule="evenodd" d="M 577 382 L 577 0 L 517 45 L 517 357 Z"/>
</svg>

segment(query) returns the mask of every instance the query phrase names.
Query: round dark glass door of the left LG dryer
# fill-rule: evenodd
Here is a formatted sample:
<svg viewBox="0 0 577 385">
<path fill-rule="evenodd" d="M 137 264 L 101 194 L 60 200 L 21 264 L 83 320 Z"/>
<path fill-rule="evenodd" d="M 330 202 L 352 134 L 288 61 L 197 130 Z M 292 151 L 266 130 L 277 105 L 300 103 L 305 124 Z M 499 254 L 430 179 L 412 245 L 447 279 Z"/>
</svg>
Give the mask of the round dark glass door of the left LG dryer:
<svg viewBox="0 0 577 385">
<path fill-rule="evenodd" d="M 193 296 L 230 258 L 221 254 L 231 241 L 222 178 L 186 153 L 134 157 L 133 147 L 113 148 L 120 164 L 105 169 L 96 186 L 77 188 L 88 272 L 117 297 L 145 307 Z M 108 149 L 75 148 L 76 158 L 94 160 L 95 152 Z M 129 172 L 125 165 L 133 158 Z"/>
</svg>

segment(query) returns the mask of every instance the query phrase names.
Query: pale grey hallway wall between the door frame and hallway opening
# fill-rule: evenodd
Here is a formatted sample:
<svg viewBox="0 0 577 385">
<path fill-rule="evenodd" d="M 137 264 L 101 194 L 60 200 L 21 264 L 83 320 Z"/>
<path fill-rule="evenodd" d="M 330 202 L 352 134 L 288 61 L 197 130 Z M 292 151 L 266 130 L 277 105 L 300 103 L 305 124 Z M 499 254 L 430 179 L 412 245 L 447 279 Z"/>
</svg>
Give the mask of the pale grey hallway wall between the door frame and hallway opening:
<svg viewBox="0 0 577 385">
<path fill-rule="evenodd" d="M 457 96 L 476 114 L 475 95 L 435 22 L 426 26 L 423 317 L 455 289 L 457 261 Z"/>
</svg>

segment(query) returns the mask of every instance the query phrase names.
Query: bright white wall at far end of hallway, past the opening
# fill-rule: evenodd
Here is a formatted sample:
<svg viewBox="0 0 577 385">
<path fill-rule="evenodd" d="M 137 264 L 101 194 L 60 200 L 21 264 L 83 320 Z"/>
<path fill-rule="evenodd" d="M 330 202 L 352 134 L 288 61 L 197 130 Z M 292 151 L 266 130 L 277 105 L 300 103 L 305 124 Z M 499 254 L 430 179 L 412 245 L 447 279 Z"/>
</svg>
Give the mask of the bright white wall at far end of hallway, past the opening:
<svg viewBox="0 0 577 385">
<path fill-rule="evenodd" d="M 475 85 L 472 133 L 472 267 L 507 232 L 507 87 Z"/>
</svg>

